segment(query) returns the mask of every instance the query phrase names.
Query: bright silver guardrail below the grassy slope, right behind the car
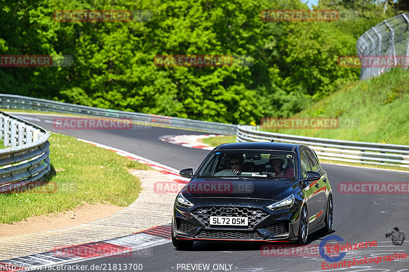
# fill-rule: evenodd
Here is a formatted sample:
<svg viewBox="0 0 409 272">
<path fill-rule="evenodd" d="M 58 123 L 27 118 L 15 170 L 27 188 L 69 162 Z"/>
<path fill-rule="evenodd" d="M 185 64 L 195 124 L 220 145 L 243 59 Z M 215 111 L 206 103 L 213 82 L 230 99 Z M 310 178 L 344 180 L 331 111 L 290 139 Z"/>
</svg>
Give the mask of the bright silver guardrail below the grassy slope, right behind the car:
<svg viewBox="0 0 409 272">
<path fill-rule="evenodd" d="M 237 141 L 289 142 L 310 146 L 320 159 L 409 167 L 409 145 L 342 141 L 259 131 L 259 127 L 237 127 Z"/>
</svg>

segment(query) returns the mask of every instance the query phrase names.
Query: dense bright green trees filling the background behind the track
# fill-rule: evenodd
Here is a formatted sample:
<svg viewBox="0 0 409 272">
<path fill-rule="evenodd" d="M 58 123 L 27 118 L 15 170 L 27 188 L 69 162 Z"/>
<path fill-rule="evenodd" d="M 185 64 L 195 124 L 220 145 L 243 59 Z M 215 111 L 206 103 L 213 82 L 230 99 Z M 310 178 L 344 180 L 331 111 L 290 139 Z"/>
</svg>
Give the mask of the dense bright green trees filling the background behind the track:
<svg viewBox="0 0 409 272">
<path fill-rule="evenodd" d="M 3 67 L 0 90 L 69 103 L 201 120 L 259 122 L 288 116 L 358 79 L 337 66 L 356 40 L 400 6 L 322 0 L 353 11 L 333 22 L 263 21 L 298 0 L 0 0 L 1 55 L 72 55 L 71 67 Z M 59 22 L 55 10 L 148 10 L 148 21 Z M 250 55 L 254 65 L 158 67 L 156 55 Z"/>
</svg>

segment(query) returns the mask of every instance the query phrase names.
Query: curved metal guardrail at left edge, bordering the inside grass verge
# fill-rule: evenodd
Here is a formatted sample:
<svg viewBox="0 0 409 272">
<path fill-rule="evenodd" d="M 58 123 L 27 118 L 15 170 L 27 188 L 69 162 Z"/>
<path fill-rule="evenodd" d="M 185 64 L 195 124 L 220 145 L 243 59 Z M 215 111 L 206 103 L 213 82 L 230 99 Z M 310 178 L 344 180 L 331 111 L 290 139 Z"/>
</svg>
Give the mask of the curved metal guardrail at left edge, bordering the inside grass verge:
<svg viewBox="0 0 409 272">
<path fill-rule="evenodd" d="M 50 171 L 50 134 L 25 120 L 0 111 L 0 193 L 18 191 Z"/>
</svg>

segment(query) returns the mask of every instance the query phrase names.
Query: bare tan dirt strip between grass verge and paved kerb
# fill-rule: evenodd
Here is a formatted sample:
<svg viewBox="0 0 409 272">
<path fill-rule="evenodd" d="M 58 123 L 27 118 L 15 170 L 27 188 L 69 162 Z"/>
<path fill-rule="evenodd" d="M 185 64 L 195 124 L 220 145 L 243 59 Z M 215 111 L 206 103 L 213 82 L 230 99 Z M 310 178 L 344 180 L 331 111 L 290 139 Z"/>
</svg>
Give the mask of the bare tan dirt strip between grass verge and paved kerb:
<svg viewBox="0 0 409 272">
<path fill-rule="evenodd" d="M 65 210 L 58 214 L 51 213 L 48 215 L 29 217 L 11 225 L 0 224 L 0 238 L 78 226 L 108 217 L 125 208 L 126 207 L 111 204 L 98 203 L 92 205 L 85 203 L 73 210 Z"/>
</svg>

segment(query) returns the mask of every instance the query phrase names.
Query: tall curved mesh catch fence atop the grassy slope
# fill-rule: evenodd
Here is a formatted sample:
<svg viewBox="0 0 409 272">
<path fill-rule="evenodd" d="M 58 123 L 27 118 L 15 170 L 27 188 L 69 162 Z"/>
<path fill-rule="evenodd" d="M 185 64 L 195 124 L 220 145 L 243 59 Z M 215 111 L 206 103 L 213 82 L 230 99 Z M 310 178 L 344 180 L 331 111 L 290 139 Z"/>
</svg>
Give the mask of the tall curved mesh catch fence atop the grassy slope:
<svg viewBox="0 0 409 272">
<path fill-rule="evenodd" d="M 372 27 L 356 42 L 358 56 L 409 56 L 409 12 L 402 13 L 388 20 L 383 20 Z M 394 59 L 396 64 L 396 58 Z M 361 67 L 360 79 L 379 76 L 391 70 L 389 67 Z M 407 65 L 406 65 L 407 69 Z"/>
</svg>

